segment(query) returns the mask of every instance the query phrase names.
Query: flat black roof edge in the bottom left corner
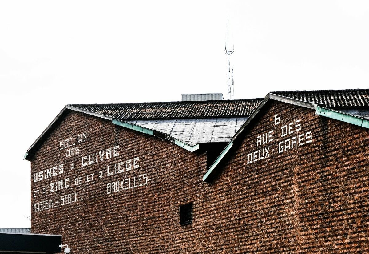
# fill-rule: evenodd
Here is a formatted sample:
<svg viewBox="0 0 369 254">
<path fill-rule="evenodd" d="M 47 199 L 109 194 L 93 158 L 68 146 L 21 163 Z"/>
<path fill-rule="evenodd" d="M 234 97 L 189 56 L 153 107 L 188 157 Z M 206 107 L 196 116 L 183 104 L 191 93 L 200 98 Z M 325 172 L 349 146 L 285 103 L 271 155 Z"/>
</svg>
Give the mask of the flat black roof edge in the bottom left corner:
<svg viewBox="0 0 369 254">
<path fill-rule="evenodd" d="M 0 233 L 0 254 L 60 253 L 61 235 Z"/>
</svg>

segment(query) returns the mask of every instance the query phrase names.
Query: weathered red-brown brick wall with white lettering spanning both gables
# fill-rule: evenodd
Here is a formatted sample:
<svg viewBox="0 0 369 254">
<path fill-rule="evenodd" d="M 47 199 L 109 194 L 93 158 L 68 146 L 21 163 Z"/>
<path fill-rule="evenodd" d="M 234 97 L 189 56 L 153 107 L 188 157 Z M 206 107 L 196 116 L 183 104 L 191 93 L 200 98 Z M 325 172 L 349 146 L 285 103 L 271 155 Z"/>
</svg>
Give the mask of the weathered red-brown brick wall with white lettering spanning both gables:
<svg viewBox="0 0 369 254">
<path fill-rule="evenodd" d="M 369 252 L 368 129 L 273 102 L 241 135 L 206 183 L 206 151 L 68 113 L 31 162 L 31 231 L 72 253 Z"/>
</svg>

